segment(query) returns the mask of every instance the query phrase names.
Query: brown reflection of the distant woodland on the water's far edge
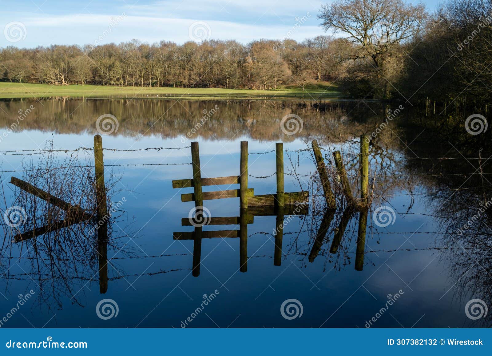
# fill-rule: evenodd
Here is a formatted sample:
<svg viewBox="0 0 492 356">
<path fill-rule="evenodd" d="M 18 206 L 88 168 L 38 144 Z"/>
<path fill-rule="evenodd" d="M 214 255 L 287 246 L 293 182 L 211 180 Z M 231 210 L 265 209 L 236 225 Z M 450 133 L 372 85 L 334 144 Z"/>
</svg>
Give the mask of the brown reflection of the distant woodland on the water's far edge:
<svg viewBox="0 0 492 356">
<path fill-rule="evenodd" d="M 309 98 L 310 99 L 310 98 Z M 0 111 L 0 126 L 9 126 L 17 120 L 18 110 L 35 100 L 3 100 Z M 67 99 L 45 100 L 44 107 L 32 110 L 23 119 L 20 129 L 38 129 L 59 133 L 95 133 L 95 121 L 103 112 L 111 112 L 118 118 L 118 135 L 128 137 L 138 135 L 157 135 L 162 137 L 182 137 L 186 135 L 202 118 L 207 116 L 204 110 L 218 107 L 210 118 L 203 120 L 203 126 L 189 139 L 233 139 L 250 136 L 256 140 L 283 141 L 294 139 L 295 135 L 283 134 L 280 120 L 287 114 L 299 115 L 303 122 L 303 131 L 298 136 L 309 134 L 318 138 L 319 143 L 338 142 L 352 139 L 365 132 L 374 124 L 366 122 L 381 111 L 378 103 L 329 102 L 313 100 L 228 100 L 228 101 L 180 101 L 151 99 Z M 56 119 L 54 119 L 56 118 Z M 379 119 L 376 118 L 376 121 Z M 116 134 L 116 133 L 115 133 Z M 340 137 L 340 135 L 342 137 Z M 325 139 L 326 137 L 326 139 Z"/>
</svg>

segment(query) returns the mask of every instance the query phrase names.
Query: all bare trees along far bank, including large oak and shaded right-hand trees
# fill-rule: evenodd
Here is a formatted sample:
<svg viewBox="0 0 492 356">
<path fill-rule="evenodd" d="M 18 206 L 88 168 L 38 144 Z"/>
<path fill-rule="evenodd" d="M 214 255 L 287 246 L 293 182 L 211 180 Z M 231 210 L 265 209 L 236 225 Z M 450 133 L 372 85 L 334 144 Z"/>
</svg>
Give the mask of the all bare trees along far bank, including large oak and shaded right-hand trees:
<svg viewBox="0 0 492 356">
<path fill-rule="evenodd" d="M 335 0 L 325 31 L 302 42 L 209 40 L 0 48 L 0 80 L 271 89 L 330 80 L 353 98 L 486 103 L 492 91 L 492 0 Z"/>
</svg>

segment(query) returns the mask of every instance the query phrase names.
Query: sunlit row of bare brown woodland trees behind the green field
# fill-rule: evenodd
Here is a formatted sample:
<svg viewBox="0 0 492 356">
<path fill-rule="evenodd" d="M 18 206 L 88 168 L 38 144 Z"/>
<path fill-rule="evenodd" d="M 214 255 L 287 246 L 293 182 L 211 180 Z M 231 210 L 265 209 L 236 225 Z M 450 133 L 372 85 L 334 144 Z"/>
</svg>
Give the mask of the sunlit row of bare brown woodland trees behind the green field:
<svg viewBox="0 0 492 356">
<path fill-rule="evenodd" d="M 270 89 L 339 76 L 347 45 L 330 36 L 298 43 L 209 40 L 152 45 L 132 40 L 93 47 L 0 48 L 0 80 L 51 85 L 97 84 Z"/>
</svg>

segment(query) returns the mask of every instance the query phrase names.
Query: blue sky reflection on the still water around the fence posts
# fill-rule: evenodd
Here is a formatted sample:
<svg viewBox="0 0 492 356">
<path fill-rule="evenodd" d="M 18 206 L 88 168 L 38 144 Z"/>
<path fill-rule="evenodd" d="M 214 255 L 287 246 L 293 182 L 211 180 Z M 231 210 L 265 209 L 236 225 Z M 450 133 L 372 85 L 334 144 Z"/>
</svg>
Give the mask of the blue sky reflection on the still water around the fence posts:
<svg viewBox="0 0 492 356">
<path fill-rule="evenodd" d="M 25 131 L 10 134 L 2 147 L 8 149 L 36 148 L 43 140 L 51 139 L 51 134 Z M 243 138 L 244 139 L 244 138 Z M 239 142 L 200 141 L 200 159 L 202 177 L 237 175 L 239 173 Z M 31 143 L 32 142 L 32 143 Z M 36 142 L 37 144 L 35 144 Z M 104 136 L 105 147 L 129 148 L 132 139 Z M 146 137 L 132 148 L 173 147 L 183 145 L 180 139 L 160 139 Z M 55 135 L 55 147 L 76 148 L 92 146 L 89 135 Z M 275 142 L 257 142 L 249 140 L 249 152 L 262 152 L 274 149 Z M 305 148 L 300 141 L 284 145 L 285 149 Z M 6 149 L 6 148 L 4 148 Z M 218 154 L 216 154 L 218 152 Z M 297 157 L 297 156 L 296 156 Z M 1 170 L 18 167 L 19 156 L 2 156 Z M 285 157 L 287 162 L 287 157 Z M 7 162 L 8 161 L 8 162 Z M 189 162 L 189 149 L 162 150 L 160 152 L 105 152 L 105 163 L 179 163 Z M 14 167 L 14 168 L 12 168 Z M 309 160 L 300 163 L 298 171 L 313 171 L 314 165 Z M 106 174 L 108 174 L 107 169 Z M 117 167 L 114 170 L 122 175 L 118 188 L 132 190 L 122 191 L 115 201 L 123 196 L 126 203 L 123 209 L 127 218 L 118 223 L 126 229 L 130 224 L 134 239 L 123 239 L 128 246 L 137 250 L 138 255 L 160 255 L 191 253 L 192 241 L 174 241 L 174 231 L 192 231 L 191 227 L 181 226 L 181 218 L 188 215 L 193 203 L 181 203 L 180 194 L 191 192 L 191 188 L 172 189 L 171 180 L 191 177 L 191 166 L 158 167 Z M 249 174 L 269 176 L 275 171 L 275 154 L 249 156 Z M 286 170 L 287 172 L 287 170 Z M 118 176 L 118 174 L 117 174 Z M 17 176 L 20 177 L 20 176 Z M 9 180 L 8 174 L 3 177 Z M 249 187 L 256 194 L 266 194 L 275 190 L 275 176 L 267 179 L 249 178 Z M 295 180 L 285 177 L 285 190 L 298 191 Z M 7 186 L 9 184 L 6 184 Z M 224 188 L 221 186 L 220 188 Z M 204 188 L 205 190 L 205 188 Z M 214 190 L 207 187 L 207 190 Z M 419 189 L 416 189 L 416 191 Z M 396 191 L 404 194 L 404 191 Z M 429 213 L 429 202 L 423 196 L 417 196 L 412 213 Z M 9 199 L 7 198 L 7 202 Z M 389 203 L 397 212 L 405 212 L 410 204 L 408 196 L 398 196 Z M 238 216 L 239 200 L 222 199 L 206 201 L 207 208 L 214 216 Z M 369 217 L 369 222 L 371 218 Z M 319 224 L 319 222 L 318 222 Z M 234 229 L 235 226 L 207 226 L 204 230 Z M 432 234 L 407 234 L 407 232 L 428 232 L 437 229 L 436 223 L 428 216 L 417 214 L 397 214 L 396 222 L 386 228 L 378 228 L 381 233 L 369 234 L 368 252 L 362 272 L 354 270 L 355 254 L 349 253 L 350 264 L 342 265 L 341 270 L 334 270 L 332 261 L 319 255 L 314 263 L 305 264 L 303 256 L 288 255 L 280 267 L 273 265 L 274 242 L 272 237 L 258 232 L 271 233 L 275 228 L 275 216 L 256 216 L 254 224 L 248 225 L 248 261 L 247 273 L 239 272 L 239 239 L 206 239 L 202 242 L 201 274 L 191 277 L 191 271 L 170 272 L 161 275 L 127 277 L 110 281 L 108 292 L 100 295 L 97 282 L 89 283 L 83 290 L 82 308 L 72 305 L 68 298 L 63 299 L 61 310 L 48 312 L 33 306 L 23 310 L 23 315 L 36 327 L 179 327 L 202 302 L 202 295 L 209 295 L 215 289 L 219 291 L 214 302 L 209 304 L 204 313 L 193 320 L 193 327 L 364 327 L 386 303 L 387 295 L 394 295 L 400 289 L 404 291 L 400 300 L 390 307 L 387 314 L 374 323 L 376 327 L 447 327 L 462 326 L 466 321 L 463 306 L 453 300 L 454 290 L 446 293 L 449 281 L 446 280 L 446 263 L 435 250 L 377 252 L 378 250 L 427 248 L 433 245 Z M 296 250 L 295 237 L 301 230 L 297 247 L 299 252 L 309 253 L 306 249 L 309 240 L 303 220 L 296 217 L 284 228 L 283 252 Z M 355 252 L 357 217 L 347 227 L 345 244 Z M 369 232 L 369 228 L 368 228 Z M 393 233 L 395 232 L 395 233 Z M 396 234 L 404 232 L 405 234 Z M 251 236 L 252 234 L 255 234 Z M 408 238 L 408 241 L 407 241 Z M 270 240 L 269 240 L 270 239 Z M 350 242 L 348 242 L 350 240 Z M 331 243 L 331 237 L 330 237 Z M 330 243 L 323 249 L 329 249 Z M 323 250 L 322 249 L 322 250 Z M 15 252 L 13 252 L 15 255 Z M 108 257 L 115 255 L 108 250 Z M 117 254 L 117 256 L 120 256 Z M 257 257 L 255 257 L 257 256 Z M 169 256 L 145 259 L 117 260 L 124 274 L 133 275 L 146 272 L 169 271 L 178 268 L 191 268 L 191 256 Z M 22 262 L 21 262 L 22 264 Z M 22 265 L 22 268 L 27 267 Z M 23 273 L 22 268 L 14 265 L 11 274 Z M 117 276 L 109 269 L 109 276 Z M 36 284 L 28 281 L 9 282 L 6 298 L 0 298 L 0 315 L 5 314 L 16 302 L 17 295 L 26 289 L 35 288 Z M 1 282 L 3 284 L 3 281 Z M 2 292 L 4 292 L 2 288 Z M 117 301 L 120 312 L 118 318 L 100 320 L 94 313 L 97 302 L 103 298 Z M 281 303 L 289 298 L 302 302 L 302 318 L 285 320 L 279 313 Z M 8 301 L 6 300 L 8 299 Z M 34 304 L 33 304 L 34 305 Z M 391 314 L 390 314 L 391 313 Z M 56 314 L 56 317 L 53 317 Z M 50 320 L 51 319 L 51 320 Z M 9 320 L 9 327 L 31 327 L 20 314 Z M 471 325 L 473 326 L 473 325 Z"/>
</svg>

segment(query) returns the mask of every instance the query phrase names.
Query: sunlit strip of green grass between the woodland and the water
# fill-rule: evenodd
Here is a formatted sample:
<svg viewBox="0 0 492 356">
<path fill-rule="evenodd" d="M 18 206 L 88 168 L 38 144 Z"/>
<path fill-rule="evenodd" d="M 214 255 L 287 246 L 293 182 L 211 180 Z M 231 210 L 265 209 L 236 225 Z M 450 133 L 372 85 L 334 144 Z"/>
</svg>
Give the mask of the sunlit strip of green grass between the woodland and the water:
<svg viewBox="0 0 492 356">
<path fill-rule="evenodd" d="M 218 89 L 171 87 L 120 87 L 102 85 L 48 85 L 0 82 L 0 99 L 44 97 L 117 97 L 163 99 L 281 99 L 281 98 L 333 98 L 337 87 L 329 82 L 310 84 L 305 91 L 298 86 L 286 85 L 278 89 Z"/>
</svg>

